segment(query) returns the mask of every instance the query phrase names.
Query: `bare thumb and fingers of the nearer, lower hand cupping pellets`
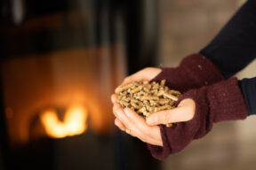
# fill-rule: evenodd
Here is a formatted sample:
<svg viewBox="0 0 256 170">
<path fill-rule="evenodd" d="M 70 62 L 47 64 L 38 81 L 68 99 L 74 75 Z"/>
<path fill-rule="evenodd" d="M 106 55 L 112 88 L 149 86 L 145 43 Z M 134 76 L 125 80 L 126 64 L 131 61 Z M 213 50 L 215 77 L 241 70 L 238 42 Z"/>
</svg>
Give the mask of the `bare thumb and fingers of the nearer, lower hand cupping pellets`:
<svg viewBox="0 0 256 170">
<path fill-rule="evenodd" d="M 194 100 L 188 98 L 182 100 L 175 109 L 152 113 L 146 121 L 138 113 L 129 108 L 123 109 L 120 104 L 117 104 L 116 95 L 112 95 L 111 100 L 114 104 L 113 112 L 118 128 L 145 143 L 158 146 L 163 146 L 163 142 L 157 125 L 192 120 L 196 110 Z"/>
</svg>

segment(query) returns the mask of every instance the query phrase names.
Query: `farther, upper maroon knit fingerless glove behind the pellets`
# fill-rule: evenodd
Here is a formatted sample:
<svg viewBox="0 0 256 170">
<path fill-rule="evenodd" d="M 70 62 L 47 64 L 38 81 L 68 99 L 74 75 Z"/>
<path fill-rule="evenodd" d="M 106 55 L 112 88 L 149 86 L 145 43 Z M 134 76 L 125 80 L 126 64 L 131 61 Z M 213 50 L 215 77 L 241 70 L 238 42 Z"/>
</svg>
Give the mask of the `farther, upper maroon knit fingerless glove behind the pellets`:
<svg viewBox="0 0 256 170">
<path fill-rule="evenodd" d="M 222 81 L 220 70 L 212 61 L 199 53 L 189 55 L 182 59 L 176 68 L 162 68 L 152 81 L 165 79 L 170 89 L 186 92 L 188 89 L 198 89 L 202 86 Z"/>
</svg>

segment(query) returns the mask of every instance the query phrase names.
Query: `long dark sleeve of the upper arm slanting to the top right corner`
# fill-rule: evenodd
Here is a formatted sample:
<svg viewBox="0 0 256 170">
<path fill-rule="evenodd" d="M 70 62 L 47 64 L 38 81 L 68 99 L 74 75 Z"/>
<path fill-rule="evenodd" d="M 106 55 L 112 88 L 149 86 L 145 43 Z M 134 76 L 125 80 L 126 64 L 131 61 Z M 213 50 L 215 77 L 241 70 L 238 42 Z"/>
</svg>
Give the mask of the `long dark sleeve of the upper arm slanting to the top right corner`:
<svg viewBox="0 0 256 170">
<path fill-rule="evenodd" d="M 256 58 L 256 1 L 249 0 L 200 51 L 228 79 Z"/>
</svg>

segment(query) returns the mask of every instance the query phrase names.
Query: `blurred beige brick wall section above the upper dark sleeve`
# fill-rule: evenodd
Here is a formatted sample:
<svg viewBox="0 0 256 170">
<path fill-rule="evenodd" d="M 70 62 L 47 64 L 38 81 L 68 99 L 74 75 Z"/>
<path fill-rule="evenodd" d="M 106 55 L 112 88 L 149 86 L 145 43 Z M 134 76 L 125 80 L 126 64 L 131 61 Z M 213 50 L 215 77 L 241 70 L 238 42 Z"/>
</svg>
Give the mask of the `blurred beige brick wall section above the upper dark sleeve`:
<svg viewBox="0 0 256 170">
<path fill-rule="evenodd" d="M 175 66 L 204 48 L 236 12 L 234 0 L 160 0 L 159 64 Z"/>
</svg>

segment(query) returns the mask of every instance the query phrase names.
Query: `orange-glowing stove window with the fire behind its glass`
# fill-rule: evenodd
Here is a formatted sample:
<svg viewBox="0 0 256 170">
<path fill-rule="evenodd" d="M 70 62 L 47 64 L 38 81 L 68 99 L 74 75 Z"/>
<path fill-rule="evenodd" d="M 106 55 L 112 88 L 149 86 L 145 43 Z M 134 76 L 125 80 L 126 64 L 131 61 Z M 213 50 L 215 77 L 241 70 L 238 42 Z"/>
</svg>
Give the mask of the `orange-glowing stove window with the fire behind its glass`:
<svg viewBox="0 0 256 170">
<path fill-rule="evenodd" d="M 4 61 L 11 144 L 80 135 L 89 129 L 96 134 L 111 132 L 114 116 L 109 97 L 124 72 L 111 70 L 116 68 L 113 59 L 99 56 L 105 53 L 102 50 L 106 49 L 56 50 Z"/>
</svg>

